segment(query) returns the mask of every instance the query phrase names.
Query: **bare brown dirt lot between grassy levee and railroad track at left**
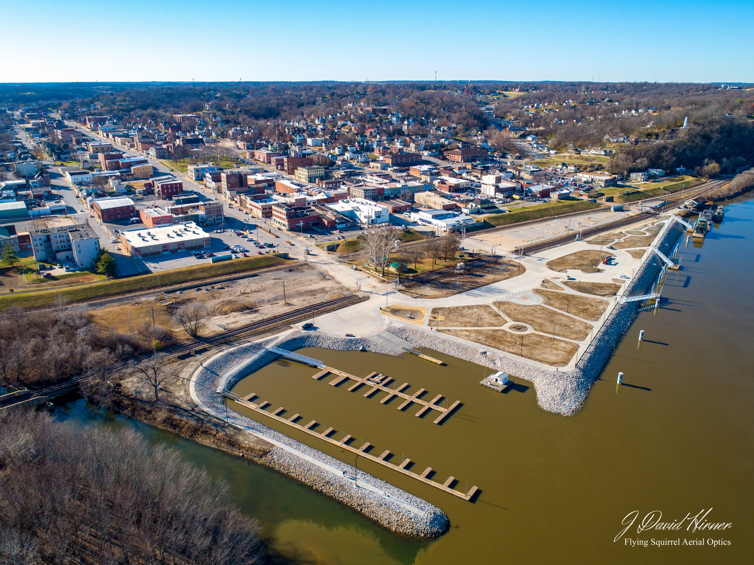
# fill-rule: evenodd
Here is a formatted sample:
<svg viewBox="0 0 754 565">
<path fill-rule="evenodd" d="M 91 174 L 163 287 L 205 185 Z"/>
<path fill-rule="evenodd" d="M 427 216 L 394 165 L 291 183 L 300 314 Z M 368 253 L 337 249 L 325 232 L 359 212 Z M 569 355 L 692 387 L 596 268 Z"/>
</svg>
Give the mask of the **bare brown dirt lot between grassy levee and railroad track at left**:
<svg viewBox="0 0 754 565">
<path fill-rule="evenodd" d="M 283 282 L 285 281 L 285 302 Z M 92 318 L 101 328 L 133 332 L 142 323 L 152 323 L 173 331 L 176 337 L 188 337 L 173 321 L 173 313 L 183 304 L 201 303 L 209 315 L 201 335 L 225 331 L 218 324 L 235 328 L 259 319 L 350 295 L 338 282 L 307 264 L 290 269 L 261 273 L 245 279 L 190 290 L 182 295 L 171 293 L 155 299 L 132 301 L 111 307 L 97 308 Z"/>
</svg>

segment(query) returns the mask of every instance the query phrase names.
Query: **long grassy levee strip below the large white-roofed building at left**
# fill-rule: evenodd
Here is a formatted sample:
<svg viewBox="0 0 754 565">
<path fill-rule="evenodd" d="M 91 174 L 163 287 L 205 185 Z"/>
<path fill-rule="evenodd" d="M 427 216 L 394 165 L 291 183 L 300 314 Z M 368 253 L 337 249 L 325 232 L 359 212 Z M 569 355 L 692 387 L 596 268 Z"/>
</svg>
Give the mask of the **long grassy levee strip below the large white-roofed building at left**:
<svg viewBox="0 0 754 565">
<path fill-rule="evenodd" d="M 55 304 L 58 296 L 66 298 L 69 302 L 80 302 L 106 298 L 108 296 L 122 295 L 128 292 L 139 292 L 155 289 L 161 286 L 176 285 L 182 282 L 201 281 L 212 276 L 231 275 L 243 273 L 247 270 L 271 267 L 284 263 L 285 259 L 275 255 L 260 255 L 221 263 L 196 265 L 194 267 L 182 267 L 180 269 L 165 270 L 161 273 L 132 276 L 127 279 L 107 280 L 95 282 L 90 285 L 78 286 L 72 289 L 49 290 L 31 292 L 23 295 L 5 295 L 0 297 L 0 310 L 11 306 L 22 308 L 34 308 Z M 159 281 L 158 281 L 159 276 Z"/>
</svg>

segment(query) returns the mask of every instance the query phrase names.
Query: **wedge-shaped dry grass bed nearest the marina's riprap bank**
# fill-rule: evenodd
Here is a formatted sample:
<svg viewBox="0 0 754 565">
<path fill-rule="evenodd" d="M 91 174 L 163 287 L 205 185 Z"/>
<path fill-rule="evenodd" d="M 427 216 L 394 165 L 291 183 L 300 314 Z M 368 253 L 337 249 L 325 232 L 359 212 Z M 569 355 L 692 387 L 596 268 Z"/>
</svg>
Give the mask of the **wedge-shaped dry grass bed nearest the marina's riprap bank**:
<svg viewBox="0 0 754 565">
<path fill-rule="evenodd" d="M 576 344 L 539 334 L 512 334 L 504 329 L 440 330 L 475 344 L 520 355 L 553 367 L 567 365 L 578 350 Z"/>
</svg>

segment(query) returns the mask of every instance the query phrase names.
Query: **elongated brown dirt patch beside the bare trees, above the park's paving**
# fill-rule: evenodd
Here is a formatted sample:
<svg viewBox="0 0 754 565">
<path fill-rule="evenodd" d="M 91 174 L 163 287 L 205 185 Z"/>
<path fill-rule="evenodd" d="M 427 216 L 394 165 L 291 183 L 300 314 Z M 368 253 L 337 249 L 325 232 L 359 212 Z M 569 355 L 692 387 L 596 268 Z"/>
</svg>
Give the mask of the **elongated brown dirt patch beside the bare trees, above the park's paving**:
<svg viewBox="0 0 754 565">
<path fill-rule="evenodd" d="M 447 298 L 513 278 L 526 272 L 516 261 L 499 261 L 475 267 L 466 273 L 448 273 L 440 278 L 414 285 L 407 282 L 400 292 L 412 298 Z"/>
</svg>

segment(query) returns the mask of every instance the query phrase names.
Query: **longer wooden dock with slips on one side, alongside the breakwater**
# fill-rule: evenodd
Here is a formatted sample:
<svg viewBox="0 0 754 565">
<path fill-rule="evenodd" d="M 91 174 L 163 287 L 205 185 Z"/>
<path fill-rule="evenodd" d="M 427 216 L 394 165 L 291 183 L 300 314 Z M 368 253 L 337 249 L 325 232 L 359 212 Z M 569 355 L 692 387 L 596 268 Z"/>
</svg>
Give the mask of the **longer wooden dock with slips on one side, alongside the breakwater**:
<svg viewBox="0 0 754 565">
<path fill-rule="evenodd" d="M 327 441 L 333 445 L 337 445 L 338 447 L 341 447 L 342 449 L 351 451 L 351 453 L 357 454 L 360 457 L 365 457 L 366 459 L 370 461 L 374 461 L 375 463 L 379 463 L 382 466 L 388 467 L 389 469 L 393 469 L 394 471 L 403 473 L 403 475 L 409 476 L 411 478 L 415 478 L 417 481 L 421 481 L 422 483 L 428 484 L 431 487 L 435 487 L 440 490 L 444 490 L 446 493 L 452 494 L 453 496 L 458 496 L 460 499 L 464 500 L 470 500 L 472 496 L 474 496 L 475 493 L 477 493 L 477 487 L 471 487 L 471 489 L 468 491 L 468 493 L 464 494 L 461 492 L 458 492 L 458 490 L 455 490 L 453 488 L 450 488 L 449 485 L 452 484 L 453 481 L 455 481 L 455 477 L 449 477 L 446 479 L 444 483 L 439 483 L 437 481 L 433 481 L 427 476 L 432 472 L 432 468 L 428 467 L 425 469 L 425 472 L 421 473 L 421 475 L 418 475 L 415 472 L 409 471 L 406 469 L 407 466 L 411 463 L 411 460 L 406 458 L 403 461 L 400 462 L 399 465 L 394 465 L 393 463 L 389 463 L 388 461 L 385 461 L 385 459 L 390 455 L 390 450 L 385 450 L 382 452 L 382 454 L 379 457 L 375 457 L 372 454 L 367 453 L 367 449 L 371 447 L 371 444 L 369 444 L 369 441 L 367 441 L 363 446 L 361 447 L 351 447 L 348 445 L 348 441 L 351 440 L 351 435 L 346 435 L 345 438 L 342 440 L 337 440 L 329 437 L 329 434 L 333 432 L 333 428 L 326 429 L 325 432 L 315 432 L 314 429 L 312 429 L 316 424 L 317 420 L 311 420 L 306 426 L 300 426 L 299 424 L 295 423 L 294 420 L 300 417 L 300 414 L 293 414 L 290 418 L 284 418 L 280 417 L 278 414 L 279 412 L 276 410 L 275 413 L 268 412 L 264 410 L 263 408 L 259 408 L 258 405 L 254 404 L 253 402 L 250 402 L 248 400 L 235 398 L 233 399 L 234 402 L 237 404 L 243 406 L 244 408 L 249 408 L 250 410 L 257 412 L 259 414 L 264 414 L 265 416 L 272 418 L 273 420 L 277 420 L 277 422 L 284 423 L 287 426 L 291 426 L 292 428 L 298 429 L 301 432 L 308 433 L 309 435 L 313 435 L 314 437 L 320 438 L 323 441 Z M 263 405 L 268 405 L 268 402 L 263 402 Z M 440 408 L 440 407 L 437 407 Z M 442 408 L 440 408 L 442 411 Z M 446 414 L 443 414 L 443 417 Z"/>
</svg>

